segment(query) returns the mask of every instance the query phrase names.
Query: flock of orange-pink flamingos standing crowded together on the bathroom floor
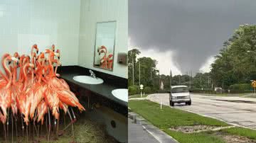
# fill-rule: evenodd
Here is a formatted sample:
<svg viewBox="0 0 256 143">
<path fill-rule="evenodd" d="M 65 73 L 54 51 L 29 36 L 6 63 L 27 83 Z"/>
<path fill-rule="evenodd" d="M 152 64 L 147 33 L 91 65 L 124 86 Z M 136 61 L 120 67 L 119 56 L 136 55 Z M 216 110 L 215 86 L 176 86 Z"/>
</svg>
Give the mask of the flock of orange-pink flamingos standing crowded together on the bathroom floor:
<svg viewBox="0 0 256 143">
<path fill-rule="evenodd" d="M 33 45 L 31 55 L 20 56 L 17 52 L 14 55 L 5 54 L 1 58 L 1 64 L 5 74 L 0 71 L 0 120 L 4 125 L 6 142 L 9 138 L 9 122 L 11 122 L 13 142 L 14 125 L 16 125 L 16 136 L 18 137 L 19 131 L 24 132 L 26 129 L 29 141 L 29 125 L 33 123 L 33 132 L 36 130 L 36 134 L 39 135 L 39 127 L 41 127 L 39 125 L 43 125 L 44 120 L 46 120 L 46 137 L 49 142 L 50 117 L 54 118 L 55 131 L 58 136 L 60 110 L 70 117 L 69 125 L 72 125 L 73 129 L 73 122 L 76 119 L 72 107 L 80 111 L 85 108 L 70 91 L 68 84 L 58 78 L 60 75 L 56 72 L 58 66 L 61 65 L 60 50 L 55 50 L 55 46 L 52 45 L 50 49 L 38 54 L 38 46 Z M 21 120 L 19 130 L 18 120 Z M 30 132 L 29 127 L 29 134 Z"/>
</svg>

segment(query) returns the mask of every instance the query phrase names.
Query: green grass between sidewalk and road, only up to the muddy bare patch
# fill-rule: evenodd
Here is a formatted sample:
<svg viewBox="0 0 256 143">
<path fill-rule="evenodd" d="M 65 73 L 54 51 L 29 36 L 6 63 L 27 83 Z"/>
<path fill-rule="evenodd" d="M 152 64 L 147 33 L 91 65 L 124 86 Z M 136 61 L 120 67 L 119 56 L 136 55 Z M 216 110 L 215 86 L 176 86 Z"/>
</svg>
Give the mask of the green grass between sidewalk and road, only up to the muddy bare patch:
<svg viewBox="0 0 256 143">
<path fill-rule="evenodd" d="M 163 107 L 160 110 L 160 105 L 151 101 L 129 101 L 129 108 L 162 130 L 184 125 L 228 126 L 225 122 L 213 118 L 206 118 L 176 108 L 169 108 L 166 105 Z"/>
</svg>

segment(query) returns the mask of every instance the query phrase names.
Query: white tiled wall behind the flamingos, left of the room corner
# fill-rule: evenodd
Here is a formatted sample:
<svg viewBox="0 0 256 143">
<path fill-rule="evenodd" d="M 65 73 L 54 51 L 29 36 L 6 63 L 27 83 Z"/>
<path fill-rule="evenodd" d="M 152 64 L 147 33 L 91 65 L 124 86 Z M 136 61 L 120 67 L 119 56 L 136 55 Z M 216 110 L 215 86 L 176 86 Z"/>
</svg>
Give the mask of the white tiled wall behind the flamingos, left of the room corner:
<svg viewBox="0 0 256 143">
<path fill-rule="evenodd" d="M 78 64 L 79 24 L 80 0 L 0 0 L 0 57 L 54 43 L 63 65 Z"/>
</svg>

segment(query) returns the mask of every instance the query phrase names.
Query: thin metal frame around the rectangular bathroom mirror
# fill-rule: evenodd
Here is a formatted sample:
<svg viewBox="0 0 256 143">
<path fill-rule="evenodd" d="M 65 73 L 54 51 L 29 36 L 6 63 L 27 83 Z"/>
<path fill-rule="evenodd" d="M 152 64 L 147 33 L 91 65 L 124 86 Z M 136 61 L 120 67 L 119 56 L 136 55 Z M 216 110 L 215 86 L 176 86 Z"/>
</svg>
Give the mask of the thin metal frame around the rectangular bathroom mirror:
<svg viewBox="0 0 256 143">
<path fill-rule="evenodd" d="M 96 55 L 96 40 L 97 40 L 97 24 L 99 23 L 113 23 L 115 22 L 116 25 L 115 25 L 115 28 L 114 28 L 114 45 L 113 45 L 113 64 L 112 64 L 112 69 L 105 69 L 105 68 L 102 68 L 102 67 L 97 67 L 95 66 L 95 55 Z M 94 56 L 93 56 L 93 67 L 97 67 L 97 68 L 100 68 L 100 69 L 105 69 L 107 71 L 113 71 L 114 69 L 114 50 L 115 50 L 115 44 L 116 44 L 116 37 L 117 37 L 117 21 L 102 21 L 102 22 L 97 22 L 96 23 L 96 26 L 95 26 L 95 45 L 94 45 Z"/>
</svg>

